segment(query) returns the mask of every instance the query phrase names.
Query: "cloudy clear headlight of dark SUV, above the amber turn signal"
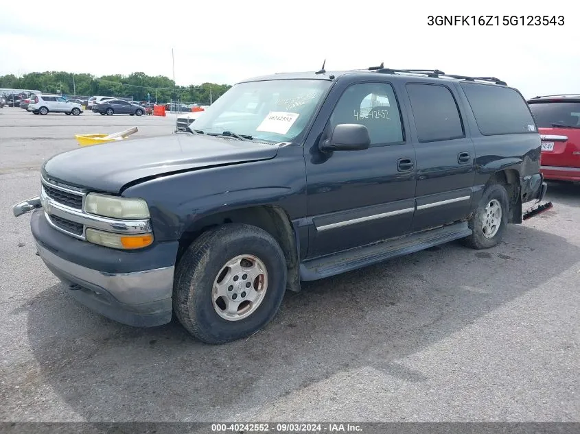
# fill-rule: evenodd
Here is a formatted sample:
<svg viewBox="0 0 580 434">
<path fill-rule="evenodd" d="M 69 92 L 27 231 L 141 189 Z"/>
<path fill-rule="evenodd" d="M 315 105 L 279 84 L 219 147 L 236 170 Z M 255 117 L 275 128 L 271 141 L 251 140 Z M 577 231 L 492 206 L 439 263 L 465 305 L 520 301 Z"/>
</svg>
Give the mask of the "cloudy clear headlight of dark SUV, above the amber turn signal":
<svg viewBox="0 0 580 434">
<path fill-rule="evenodd" d="M 114 219 L 148 219 L 149 207 L 143 199 L 89 193 L 84 200 L 87 213 Z"/>
</svg>

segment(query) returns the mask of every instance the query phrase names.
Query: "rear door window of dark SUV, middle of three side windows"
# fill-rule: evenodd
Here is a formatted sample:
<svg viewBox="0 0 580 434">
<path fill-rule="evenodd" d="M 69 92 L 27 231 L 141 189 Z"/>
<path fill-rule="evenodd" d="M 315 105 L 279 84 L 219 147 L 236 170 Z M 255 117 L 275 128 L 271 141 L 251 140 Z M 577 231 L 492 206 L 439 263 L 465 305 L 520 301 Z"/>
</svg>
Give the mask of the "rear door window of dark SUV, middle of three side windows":
<svg viewBox="0 0 580 434">
<path fill-rule="evenodd" d="M 459 109 L 449 88 L 439 84 L 407 84 L 419 142 L 465 136 Z"/>
</svg>

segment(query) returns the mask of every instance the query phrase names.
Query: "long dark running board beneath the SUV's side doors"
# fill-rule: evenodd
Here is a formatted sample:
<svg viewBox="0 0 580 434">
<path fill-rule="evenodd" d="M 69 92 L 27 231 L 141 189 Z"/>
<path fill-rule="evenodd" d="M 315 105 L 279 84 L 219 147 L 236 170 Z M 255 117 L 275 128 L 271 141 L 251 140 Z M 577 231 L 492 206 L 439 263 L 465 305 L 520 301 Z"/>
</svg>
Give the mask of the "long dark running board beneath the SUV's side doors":
<svg viewBox="0 0 580 434">
<path fill-rule="evenodd" d="M 350 272 L 354 269 L 367 267 L 396 258 L 409 253 L 419 252 L 463 237 L 469 237 L 473 231 L 467 226 L 467 222 L 456 223 L 409 235 L 391 241 L 381 241 L 372 245 L 354 248 L 338 252 L 322 258 L 314 258 L 300 264 L 301 280 L 318 280 L 336 274 Z"/>
</svg>

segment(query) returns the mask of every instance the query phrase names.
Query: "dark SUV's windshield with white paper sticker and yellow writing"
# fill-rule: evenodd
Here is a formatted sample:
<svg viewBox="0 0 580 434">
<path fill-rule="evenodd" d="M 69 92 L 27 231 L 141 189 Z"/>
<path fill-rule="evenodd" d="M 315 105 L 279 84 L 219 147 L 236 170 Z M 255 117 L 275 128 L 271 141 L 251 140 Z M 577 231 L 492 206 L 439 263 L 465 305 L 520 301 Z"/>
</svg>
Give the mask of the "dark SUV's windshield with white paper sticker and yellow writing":
<svg viewBox="0 0 580 434">
<path fill-rule="evenodd" d="M 331 84 L 327 80 L 236 84 L 202 112 L 190 128 L 205 134 L 231 132 L 259 141 L 294 141 Z"/>
</svg>

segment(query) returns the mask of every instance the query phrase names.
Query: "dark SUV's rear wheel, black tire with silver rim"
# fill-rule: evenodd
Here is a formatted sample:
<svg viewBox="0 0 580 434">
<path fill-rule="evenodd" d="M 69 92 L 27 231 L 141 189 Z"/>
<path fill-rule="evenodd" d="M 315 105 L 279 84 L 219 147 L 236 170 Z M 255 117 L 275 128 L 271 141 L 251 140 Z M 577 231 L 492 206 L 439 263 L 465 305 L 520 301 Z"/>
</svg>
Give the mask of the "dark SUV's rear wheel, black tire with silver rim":
<svg viewBox="0 0 580 434">
<path fill-rule="evenodd" d="M 473 234 L 461 239 L 461 243 L 477 250 L 498 245 L 507 226 L 508 213 L 509 198 L 505 187 L 489 184 L 483 191 L 476 212 L 467 223 Z"/>
</svg>

